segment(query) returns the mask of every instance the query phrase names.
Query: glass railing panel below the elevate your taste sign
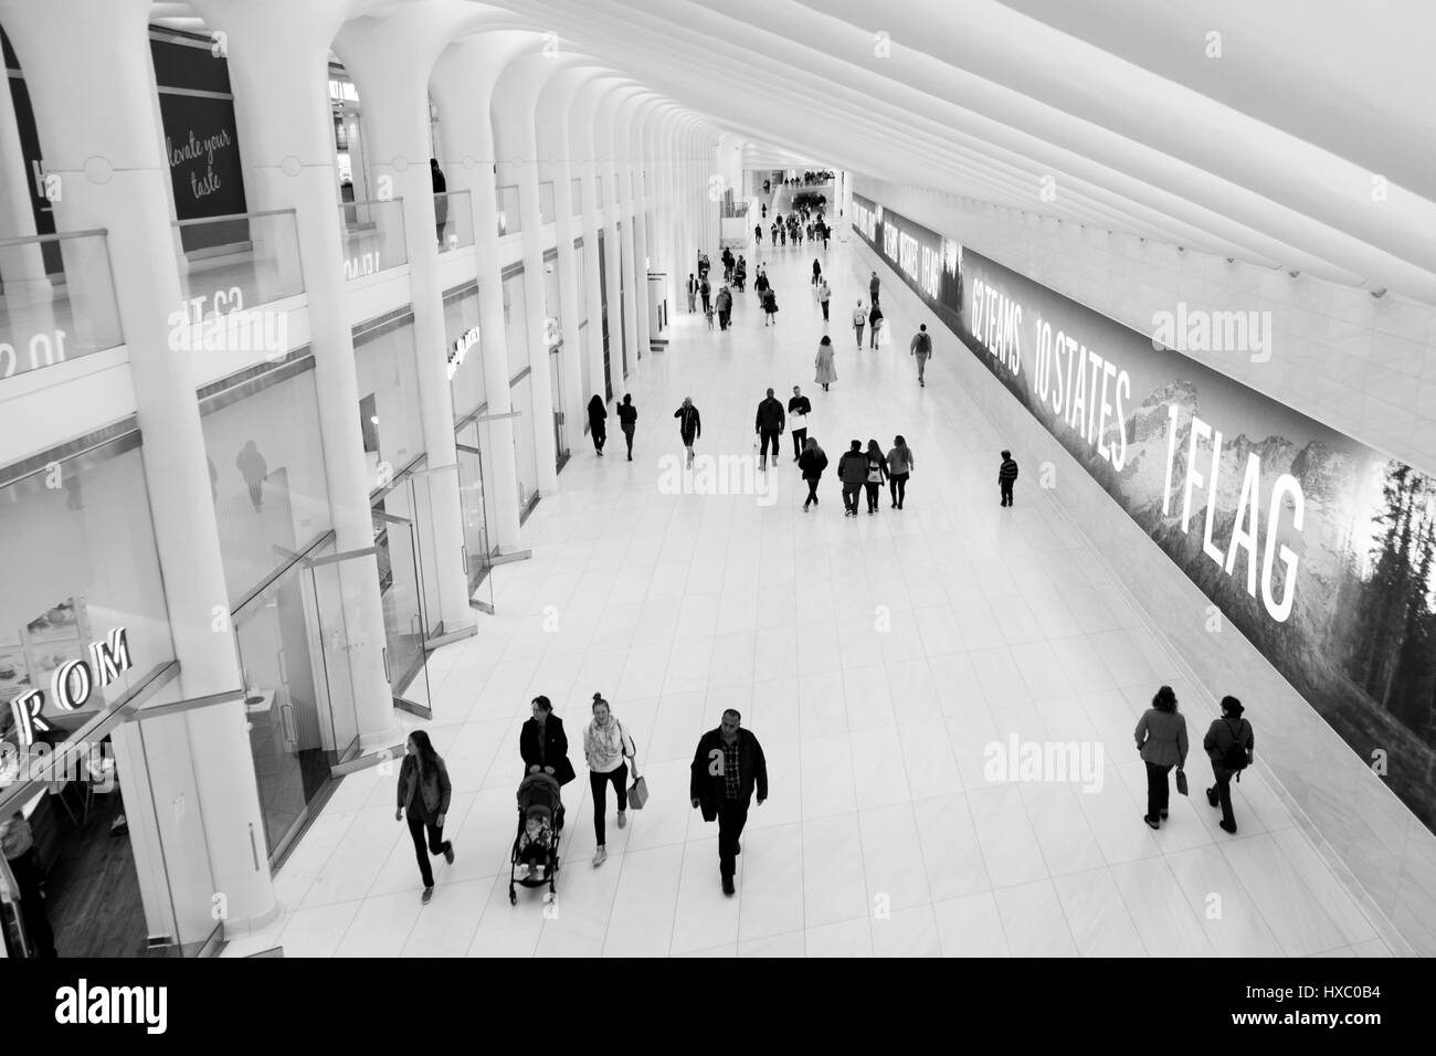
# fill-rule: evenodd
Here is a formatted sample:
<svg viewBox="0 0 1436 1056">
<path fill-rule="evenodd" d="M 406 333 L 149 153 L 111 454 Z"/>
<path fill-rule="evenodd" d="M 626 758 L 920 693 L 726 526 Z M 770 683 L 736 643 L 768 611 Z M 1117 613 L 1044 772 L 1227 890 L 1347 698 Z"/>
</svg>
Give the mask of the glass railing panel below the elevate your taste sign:
<svg viewBox="0 0 1436 1056">
<path fill-rule="evenodd" d="M 292 208 L 180 220 L 172 227 L 191 323 L 304 292 Z"/>
</svg>

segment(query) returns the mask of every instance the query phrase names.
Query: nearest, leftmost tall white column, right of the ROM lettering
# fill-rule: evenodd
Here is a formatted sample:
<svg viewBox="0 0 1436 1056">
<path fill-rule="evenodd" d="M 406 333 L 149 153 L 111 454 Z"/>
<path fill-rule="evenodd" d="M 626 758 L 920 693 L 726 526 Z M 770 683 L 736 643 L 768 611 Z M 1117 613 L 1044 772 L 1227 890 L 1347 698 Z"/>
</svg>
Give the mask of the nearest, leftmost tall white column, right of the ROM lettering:
<svg viewBox="0 0 1436 1056">
<path fill-rule="evenodd" d="M 197 698 L 238 690 L 241 680 L 233 634 L 225 621 L 215 624 L 215 613 L 228 613 L 228 596 L 194 374 L 188 358 L 168 346 L 168 316 L 180 307 L 181 286 L 148 16 L 149 0 L 0 0 L 46 165 L 63 181 L 59 227 L 109 230 L 155 549 L 181 665 L 174 695 Z M 142 751 L 141 737 L 164 750 Z M 178 920 L 178 937 L 188 941 L 221 902 L 231 928 L 270 920 L 274 889 L 243 703 L 138 728 L 126 724 L 115 740 L 126 760 L 122 796 L 151 932 L 167 934 Z M 172 905 L 174 918 L 155 920 L 158 904 Z"/>
</svg>

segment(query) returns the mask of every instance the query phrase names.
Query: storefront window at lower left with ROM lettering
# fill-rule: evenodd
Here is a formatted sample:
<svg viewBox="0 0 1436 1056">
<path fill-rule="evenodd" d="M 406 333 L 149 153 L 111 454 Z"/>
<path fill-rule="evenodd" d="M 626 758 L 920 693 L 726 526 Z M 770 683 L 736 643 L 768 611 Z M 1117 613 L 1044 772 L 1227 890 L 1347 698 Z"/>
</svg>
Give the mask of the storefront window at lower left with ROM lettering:
<svg viewBox="0 0 1436 1056">
<path fill-rule="evenodd" d="M 126 770 L 122 786 L 109 737 L 96 737 L 52 770 L 53 780 L 33 780 L 45 753 L 93 730 L 174 659 L 138 431 L 0 487 L 0 698 L 39 695 L 23 720 L 11 707 L 0 711 L 0 839 L 27 845 L 10 862 L 22 898 L 11 904 L 20 912 L 0 912 L 4 944 L 11 955 L 22 941 L 60 957 L 139 955 L 152 937 L 174 938 L 141 895 L 126 838 L 122 793 L 141 790 L 144 769 Z M 102 662 L 92 644 L 115 662 Z M 56 682 L 73 710 L 56 700 Z"/>
</svg>

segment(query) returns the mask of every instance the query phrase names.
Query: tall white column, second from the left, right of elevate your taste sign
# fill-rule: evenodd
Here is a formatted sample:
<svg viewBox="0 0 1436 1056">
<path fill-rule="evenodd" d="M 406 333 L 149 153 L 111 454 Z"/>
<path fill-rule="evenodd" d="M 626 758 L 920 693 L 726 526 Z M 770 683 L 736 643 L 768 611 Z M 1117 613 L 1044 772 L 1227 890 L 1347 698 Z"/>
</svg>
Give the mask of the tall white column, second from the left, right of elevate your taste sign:
<svg viewBox="0 0 1436 1056">
<path fill-rule="evenodd" d="M 335 546 L 340 553 L 366 550 L 373 546 L 369 491 L 381 481 L 370 478 L 359 425 L 327 78 L 329 46 L 348 4 L 320 0 L 294 9 L 286 0 L 195 0 L 195 9 L 227 34 L 247 201 L 254 210 L 294 210 Z M 359 750 L 368 756 L 404 740 L 383 665 L 378 565 L 343 562 L 336 580 L 349 670 L 348 680 L 330 681 L 348 681 Z"/>
</svg>

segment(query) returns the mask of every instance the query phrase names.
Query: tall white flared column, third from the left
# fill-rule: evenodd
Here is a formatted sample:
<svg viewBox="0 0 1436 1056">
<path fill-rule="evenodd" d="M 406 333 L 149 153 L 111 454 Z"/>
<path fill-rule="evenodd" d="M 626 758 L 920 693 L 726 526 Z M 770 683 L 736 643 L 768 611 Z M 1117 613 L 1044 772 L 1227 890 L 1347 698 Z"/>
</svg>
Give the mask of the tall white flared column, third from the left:
<svg viewBox="0 0 1436 1056">
<path fill-rule="evenodd" d="M 454 447 L 454 401 L 448 381 L 448 338 L 444 332 L 444 289 L 439 280 L 434 180 L 429 172 L 429 70 L 445 45 L 448 26 L 437 19 L 353 19 L 335 49 L 359 89 L 369 172 L 388 177 L 402 203 L 404 241 L 409 260 L 409 300 L 418 356 L 419 418 L 428 468 L 415 497 L 421 530 L 424 596 L 429 631 L 445 634 L 475 625 L 468 605 L 464 563 L 464 514 L 458 496 Z M 455 217 L 455 223 L 460 221 Z M 449 468 L 452 467 L 452 468 Z M 393 510 L 389 510 L 391 513 Z"/>
</svg>

